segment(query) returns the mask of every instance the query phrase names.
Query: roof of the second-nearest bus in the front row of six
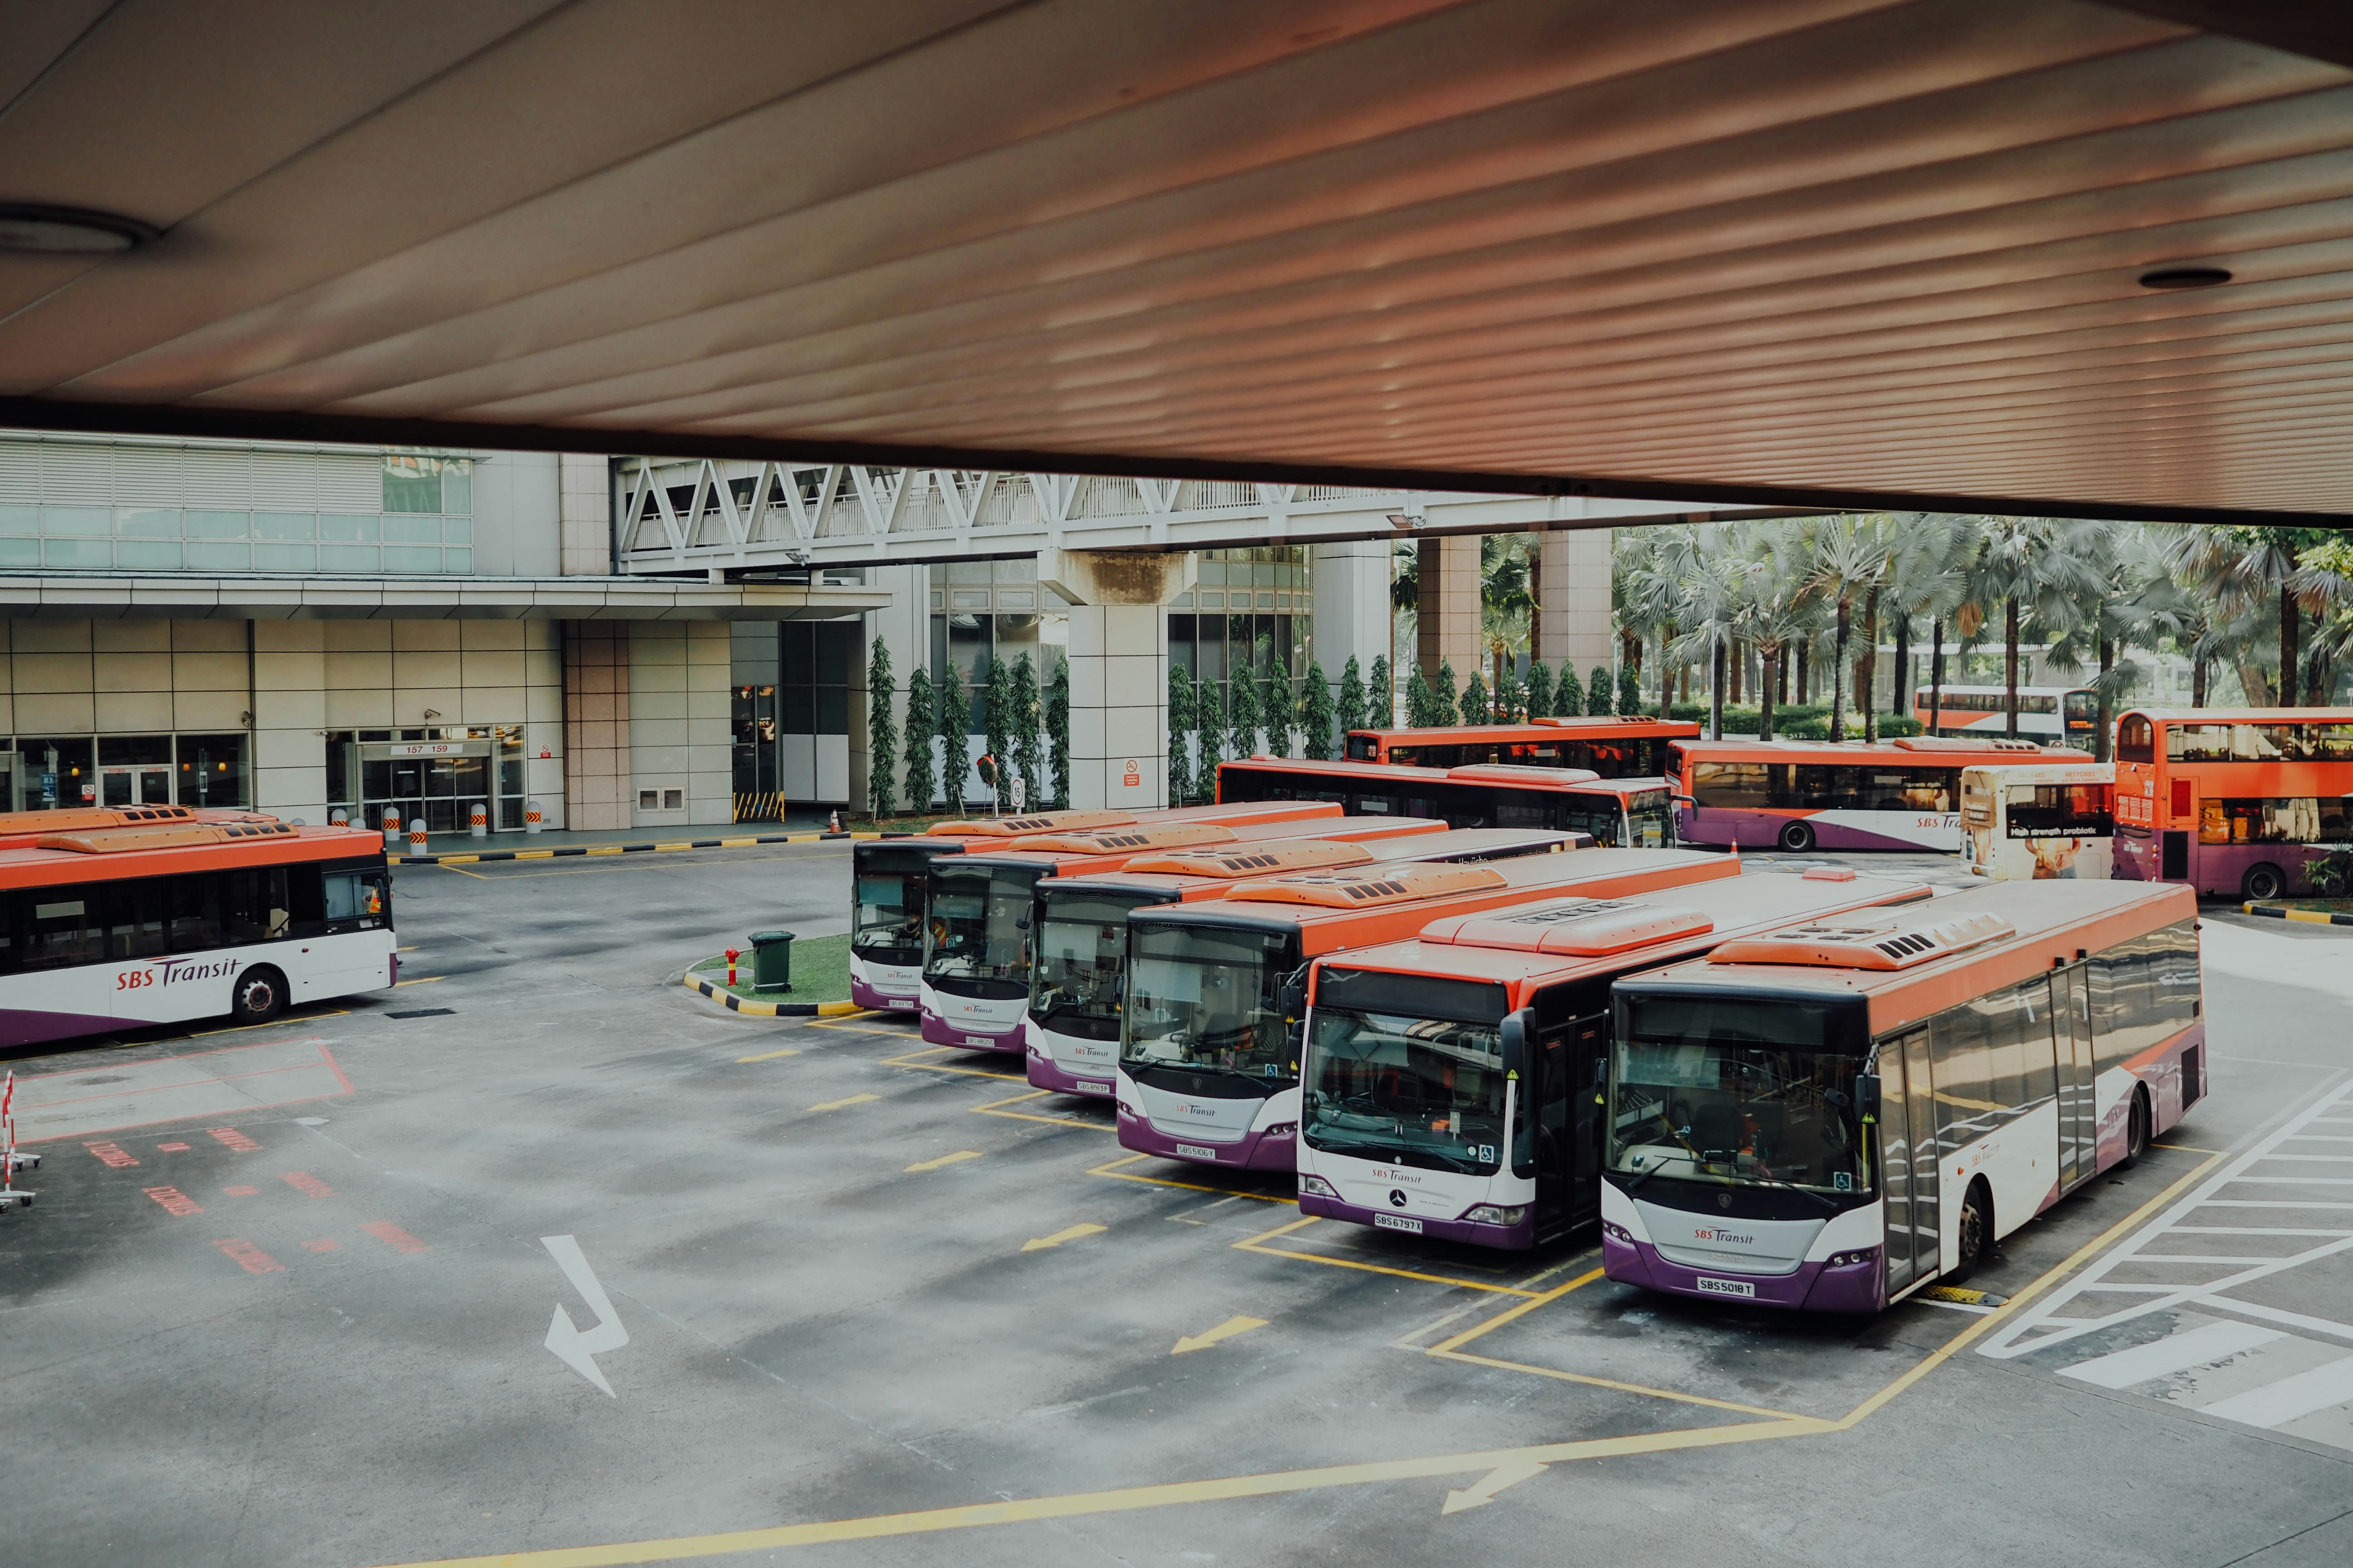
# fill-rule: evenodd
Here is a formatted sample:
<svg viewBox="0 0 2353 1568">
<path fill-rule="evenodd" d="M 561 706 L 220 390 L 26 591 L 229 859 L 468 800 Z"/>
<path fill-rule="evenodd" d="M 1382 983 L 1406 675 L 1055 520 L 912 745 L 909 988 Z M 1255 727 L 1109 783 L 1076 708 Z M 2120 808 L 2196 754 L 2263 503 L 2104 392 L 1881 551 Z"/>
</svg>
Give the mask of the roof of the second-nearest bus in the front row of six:
<svg viewBox="0 0 2353 1568">
<path fill-rule="evenodd" d="M 1619 973 L 1631 964 L 1666 964 L 1706 952 L 1727 936 L 1927 898 L 1927 886 L 1894 877 L 1751 872 L 1605 900 L 1546 898 L 1487 914 L 1447 914 L 1402 943 L 1318 959 L 1315 973 L 1377 969 L 1494 980 L 1508 990 L 1511 1006 L 1520 1006 L 1532 990 Z"/>
</svg>

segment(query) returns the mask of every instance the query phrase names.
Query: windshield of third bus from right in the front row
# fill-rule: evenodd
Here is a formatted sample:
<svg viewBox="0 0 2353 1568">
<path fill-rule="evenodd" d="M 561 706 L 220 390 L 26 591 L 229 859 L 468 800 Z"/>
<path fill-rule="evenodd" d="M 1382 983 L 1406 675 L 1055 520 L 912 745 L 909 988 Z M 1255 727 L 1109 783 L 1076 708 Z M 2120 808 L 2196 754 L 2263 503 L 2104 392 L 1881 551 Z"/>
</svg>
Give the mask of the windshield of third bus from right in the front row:
<svg viewBox="0 0 2353 1568">
<path fill-rule="evenodd" d="M 1132 929 L 1120 1065 L 1297 1081 L 1299 1058 L 1282 1023 L 1282 938 L 1273 933 Z"/>
</svg>

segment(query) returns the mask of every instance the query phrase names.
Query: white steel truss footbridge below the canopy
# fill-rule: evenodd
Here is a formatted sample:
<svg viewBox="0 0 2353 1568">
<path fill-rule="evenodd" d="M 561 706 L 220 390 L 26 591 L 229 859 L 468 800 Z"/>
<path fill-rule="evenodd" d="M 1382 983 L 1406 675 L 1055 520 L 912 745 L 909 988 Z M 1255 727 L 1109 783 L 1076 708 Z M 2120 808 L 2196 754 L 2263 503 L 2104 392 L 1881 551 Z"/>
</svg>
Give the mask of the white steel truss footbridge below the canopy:
<svg viewBox="0 0 2353 1568">
<path fill-rule="evenodd" d="M 624 571 L 880 567 L 1038 550 L 1212 550 L 1732 517 L 1680 501 L 624 458 Z"/>
</svg>

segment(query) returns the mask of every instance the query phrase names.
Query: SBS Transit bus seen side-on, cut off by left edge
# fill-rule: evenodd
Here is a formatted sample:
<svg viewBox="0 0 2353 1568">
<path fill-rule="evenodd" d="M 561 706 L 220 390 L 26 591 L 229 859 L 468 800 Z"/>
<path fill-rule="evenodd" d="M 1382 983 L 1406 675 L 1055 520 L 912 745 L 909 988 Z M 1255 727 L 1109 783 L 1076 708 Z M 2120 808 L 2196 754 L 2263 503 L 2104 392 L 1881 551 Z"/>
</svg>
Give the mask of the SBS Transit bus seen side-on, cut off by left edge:
<svg viewBox="0 0 2353 1568">
<path fill-rule="evenodd" d="M 0 1046 L 391 985 L 384 835 L 160 820 L 0 849 Z"/>
</svg>

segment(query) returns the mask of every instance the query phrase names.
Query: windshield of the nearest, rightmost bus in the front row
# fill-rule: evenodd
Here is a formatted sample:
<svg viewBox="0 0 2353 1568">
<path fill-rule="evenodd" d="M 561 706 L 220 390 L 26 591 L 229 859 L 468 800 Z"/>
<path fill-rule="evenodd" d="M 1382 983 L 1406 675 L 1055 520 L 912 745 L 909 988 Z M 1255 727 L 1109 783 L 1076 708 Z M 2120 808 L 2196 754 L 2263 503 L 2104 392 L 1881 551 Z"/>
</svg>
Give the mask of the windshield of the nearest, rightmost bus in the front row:
<svg viewBox="0 0 2353 1568">
<path fill-rule="evenodd" d="M 1739 1187 L 1871 1192 L 1861 1060 L 1817 1048 L 1826 1009 L 1642 997 L 1609 1056 L 1609 1168 Z"/>
</svg>

